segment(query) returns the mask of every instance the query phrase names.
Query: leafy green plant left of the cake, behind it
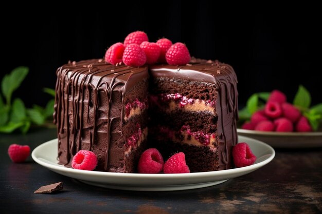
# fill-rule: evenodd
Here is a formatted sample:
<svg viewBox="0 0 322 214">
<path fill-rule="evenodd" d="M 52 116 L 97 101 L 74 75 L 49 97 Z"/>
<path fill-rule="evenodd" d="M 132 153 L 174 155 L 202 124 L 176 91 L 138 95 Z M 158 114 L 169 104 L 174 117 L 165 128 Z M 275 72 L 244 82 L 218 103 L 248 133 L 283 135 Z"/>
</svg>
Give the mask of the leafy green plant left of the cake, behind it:
<svg viewBox="0 0 322 214">
<path fill-rule="evenodd" d="M 45 107 L 33 105 L 32 108 L 26 108 L 20 98 L 15 98 L 12 101 L 12 93 L 20 87 L 28 72 L 29 69 L 27 67 L 17 67 L 2 79 L 2 94 L 0 93 L 0 132 L 10 133 L 16 129 L 20 129 L 22 133 L 26 133 L 32 124 L 43 125 L 52 116 L 53 99 Z M 55 96 L 55 90 L 45 88 L 44 91 Z"/>
</svg>

